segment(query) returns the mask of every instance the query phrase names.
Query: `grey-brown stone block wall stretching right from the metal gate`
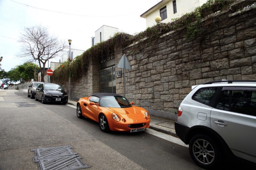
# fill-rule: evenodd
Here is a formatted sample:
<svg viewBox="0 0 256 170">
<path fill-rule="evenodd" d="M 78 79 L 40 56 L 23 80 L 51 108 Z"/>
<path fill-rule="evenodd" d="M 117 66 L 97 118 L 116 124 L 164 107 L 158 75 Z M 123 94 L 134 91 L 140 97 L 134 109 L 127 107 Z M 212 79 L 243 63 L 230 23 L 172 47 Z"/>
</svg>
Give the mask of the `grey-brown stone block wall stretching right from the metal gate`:
<svg viewBox="0 0 256 170">
<path fill-rule="evenodd" d="M 132 68 L 126 70 L 126 98 L 140 107 L 177 113 L 193 85 L 255 80 L 255 13 L 252 8 L 209 17 L 202 23 L 203 34 L 194 40 L 183 38 L 184 29 L 120 50 L 116 65 L 125 54 Z M 117 93 L 123 95 L 123 77 L 116 83 Z"/>
</svg>

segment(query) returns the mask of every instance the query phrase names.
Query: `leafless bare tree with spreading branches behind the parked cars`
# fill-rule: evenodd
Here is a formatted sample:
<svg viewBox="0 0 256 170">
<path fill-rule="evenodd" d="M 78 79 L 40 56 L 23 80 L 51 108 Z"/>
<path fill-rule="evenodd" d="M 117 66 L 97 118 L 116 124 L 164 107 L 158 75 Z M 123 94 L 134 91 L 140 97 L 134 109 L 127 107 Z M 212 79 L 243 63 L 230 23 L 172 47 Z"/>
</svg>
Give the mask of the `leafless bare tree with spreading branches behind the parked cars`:
<svg viewBox="0 0 256 170">
<path fill-rule="evenodd" d="M 57 37 L 50 36 L 47 28 L 41 25 L 25 28 L 23 31 L 19 41 L 22 43 L 22 53 L 19 56 L 28 57 L 31 61 L 37 60 L 41 71 L 41 81 L 44 81 L 46 62 L 63 52 L 67 46 L 64 42 L 59 42 Z"/>
</svg>

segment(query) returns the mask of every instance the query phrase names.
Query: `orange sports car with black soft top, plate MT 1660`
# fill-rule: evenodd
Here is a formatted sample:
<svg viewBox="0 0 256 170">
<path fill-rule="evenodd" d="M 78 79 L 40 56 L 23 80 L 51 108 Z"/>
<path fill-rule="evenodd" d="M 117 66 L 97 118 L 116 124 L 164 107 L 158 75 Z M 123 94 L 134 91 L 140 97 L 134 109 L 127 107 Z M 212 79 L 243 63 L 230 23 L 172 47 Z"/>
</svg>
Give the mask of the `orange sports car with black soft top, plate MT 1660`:
<svg viewBox="0 0 256 170">
<path fill-rule="evenodd" d="M 76 104 L 78 118 L 88 117 L 100 125 L 101 131 L 144 131 L 149 128 L 148 111 L 115 93 L 94 93 Z"/>
</svg>

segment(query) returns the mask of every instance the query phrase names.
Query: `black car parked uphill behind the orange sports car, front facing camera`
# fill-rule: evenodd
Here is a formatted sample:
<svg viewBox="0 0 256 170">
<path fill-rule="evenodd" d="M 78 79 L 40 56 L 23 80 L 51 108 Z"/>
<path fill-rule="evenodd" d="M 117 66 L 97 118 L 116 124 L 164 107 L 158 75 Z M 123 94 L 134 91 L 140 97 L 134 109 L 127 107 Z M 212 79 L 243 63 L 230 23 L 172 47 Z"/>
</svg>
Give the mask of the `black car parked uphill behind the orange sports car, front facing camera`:
<svg viewBox="0 0 256 170">
<path fill-rule="evenodd" d="M 41 83 L 36 88 L 35 100 L 41 100 L 42 103 L 57 102 L 66 104 L 68 103 L 68 94 L 59 84 Z"/>
</svg>

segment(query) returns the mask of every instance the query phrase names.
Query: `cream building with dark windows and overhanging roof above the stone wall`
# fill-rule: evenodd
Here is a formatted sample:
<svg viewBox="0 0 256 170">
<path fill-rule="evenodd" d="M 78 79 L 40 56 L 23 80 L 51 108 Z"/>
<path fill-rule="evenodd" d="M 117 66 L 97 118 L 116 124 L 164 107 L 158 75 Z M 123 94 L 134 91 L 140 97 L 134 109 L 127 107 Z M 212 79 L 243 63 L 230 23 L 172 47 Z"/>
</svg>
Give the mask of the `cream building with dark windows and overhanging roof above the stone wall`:
<svg viewBox="0 0 256 170">
<path fill-rule="evenodd" d="M 163 23 L 171 22 L 174 18 L 192 12 L 196 7 L 203 5 L 207 0 L 162 0 L 148 11 L 140 15 L 146 18 L 147 27 L 156 25 L 155 17 L 160 16 Z"/>
</svg>

